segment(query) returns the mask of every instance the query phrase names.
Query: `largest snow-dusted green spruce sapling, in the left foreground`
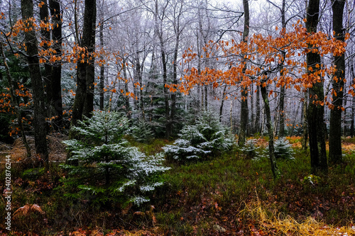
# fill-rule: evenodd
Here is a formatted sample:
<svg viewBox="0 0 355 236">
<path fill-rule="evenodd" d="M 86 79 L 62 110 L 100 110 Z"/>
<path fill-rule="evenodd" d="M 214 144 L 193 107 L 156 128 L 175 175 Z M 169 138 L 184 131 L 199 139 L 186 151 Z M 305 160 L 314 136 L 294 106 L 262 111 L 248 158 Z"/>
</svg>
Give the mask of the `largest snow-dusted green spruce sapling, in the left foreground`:
<svg viewBox="0 0 355 236">
<path fill-rule="evenodd" d="M 146 157 L 124 140 L 128 120 L 120 113 L 95 111 L 73 127 L 80 138 L 67 140 L 70 160 L 64 164 L 68 195 L 94 203 L 128 203 L 148 201 L 146 193 L 163 184 L 160 174 L 163 154 Z"/>
</svg>

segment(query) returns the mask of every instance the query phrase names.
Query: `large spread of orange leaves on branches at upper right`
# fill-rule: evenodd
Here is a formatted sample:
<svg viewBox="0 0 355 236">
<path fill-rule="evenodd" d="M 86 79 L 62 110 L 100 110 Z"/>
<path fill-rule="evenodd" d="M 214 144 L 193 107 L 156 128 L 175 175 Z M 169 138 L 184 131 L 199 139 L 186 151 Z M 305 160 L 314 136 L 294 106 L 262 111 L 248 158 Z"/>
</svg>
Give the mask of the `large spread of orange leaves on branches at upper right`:
<svg viewBox="0 0 355 236">
<path fill-rule="evenodd" d="M 210 41 L 204 47 L 206 55 L 210 57 L 213 52 L 219 62 L 225 59 L 226 67 L 229 69 L 205 67 L 200 73 L 195 67 L 186 69 L 178 89 L 188 94 L 190 89 L 197 85 L 213 84 L 216 88 L 227 84 L 245 89 L 249 88 L 252 83 L 261 86 L 275 83 L 277 87 L 285 86 L 287 89 L 294 87 L 297 91 L 301 91 L 311 88 L 315 83 L 322 82 L 325 73 L 334 74 L 334 67 L 327 67 L 324 64 L 307 67 L 307 63 L 302 58 L 308 52 L 319 53 L 321 56 L 342 55 L 345 52 L 346 43 L 322 32 L 307 33 L 300 22 L 293 27 L 290 32 L 278 30 L 279 34 L 276 37 L 252 35 L 248 43 L 237 43 L 235 40 Z M 349 38 L 349 35 L 346 35 L 346 38 Z M 182 57 L 185 63 L 197 60 L 197 54 L 192 48 L 185 50 Z M 283 69 L 280 70 L 280 68 Z M 265 72 L 272 73 L 273 76 L 266 77 Z M 276 72 L 280 72 L 280 75 Z M 351 94 L 355 92 L 351 91 Z M 320 101 L 320 105 L 322 103 L 324 102 Z"/>
</svg>

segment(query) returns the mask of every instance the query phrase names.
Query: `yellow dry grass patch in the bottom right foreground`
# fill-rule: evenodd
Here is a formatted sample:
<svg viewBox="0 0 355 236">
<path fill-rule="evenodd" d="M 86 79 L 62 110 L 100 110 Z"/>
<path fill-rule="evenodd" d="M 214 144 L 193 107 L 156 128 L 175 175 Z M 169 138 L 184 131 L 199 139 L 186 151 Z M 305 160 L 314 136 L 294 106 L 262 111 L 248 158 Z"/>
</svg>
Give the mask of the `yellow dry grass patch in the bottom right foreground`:
<svg viewBox="0 0 355 236">
<path fill-rule="evenodd" d="M 251 231 L 254 235 L 261 235 L 260 232 L 267 232 L 269 235 L 355 235 L 355 226 L 335 227 L 334 225 L 326 225 L 308 217 L 302 223 L 297 222 L 290 215 L 277 214 L 268 212 L 266 207 L 262 206 L 260 201 L 246 204 L 246 208 L 241 211 L 243 218 L 251 218 L 258 225 L 258 231 L 254 225 Z M 253 229 L 254 228 L 254 229 Z"/>
</svg>

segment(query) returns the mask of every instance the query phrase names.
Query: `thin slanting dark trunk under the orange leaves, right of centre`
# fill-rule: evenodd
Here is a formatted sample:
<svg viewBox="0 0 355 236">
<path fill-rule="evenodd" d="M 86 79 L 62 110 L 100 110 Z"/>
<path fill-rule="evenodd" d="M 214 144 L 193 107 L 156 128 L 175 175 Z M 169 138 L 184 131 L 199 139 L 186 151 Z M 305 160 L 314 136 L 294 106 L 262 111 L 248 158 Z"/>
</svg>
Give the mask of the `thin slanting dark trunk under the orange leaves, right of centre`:
<svg viewBox="0 0 355 236">
<path fill-rule="evenodd" d="M 261 86 L 261 96 L 263 97 L 264 101 L 264 111 L 266 114 L 266 128 L 268 128 L 268 150 L 269 150 L 269 160 L 271 164 L 271 171 L 273 172 L 273 179 L 279 179 L 281 174 L 280 170 L 278 169 L 278 165 L 276 164 L 275 159 L 275 149 L 273 145 L 273 123 L 271 121 L 271 112 L 270 112 L 270 104 L 268 101 L 268 93 L 266 91 L 266 86 Z"/>
</svg>

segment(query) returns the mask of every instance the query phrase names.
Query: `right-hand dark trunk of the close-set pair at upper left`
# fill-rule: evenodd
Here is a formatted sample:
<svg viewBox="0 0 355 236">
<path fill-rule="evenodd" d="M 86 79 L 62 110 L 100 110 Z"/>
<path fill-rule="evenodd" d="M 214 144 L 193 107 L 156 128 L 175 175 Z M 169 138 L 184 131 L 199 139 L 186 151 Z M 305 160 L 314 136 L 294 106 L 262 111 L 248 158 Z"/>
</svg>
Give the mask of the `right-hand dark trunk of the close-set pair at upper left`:
<svg viewBox="0 0 355 236">
<path fill-rule="evenodd" d="M 53 49 L 55 50 L 55 55 L 60 57 L 62 55 L 62 14 L 60 12 L 60 0 L 49 0 L 50 15 L 52 16 L 53 30 Z M 61 62 L 56 62 L 52 66 L 51 74 L 51 91 L 52 91 L 52 101 L 51 105 L 54 107 L 55 113 L 55 129 L 62 128 L 62 64 Z"/>
</svg>

